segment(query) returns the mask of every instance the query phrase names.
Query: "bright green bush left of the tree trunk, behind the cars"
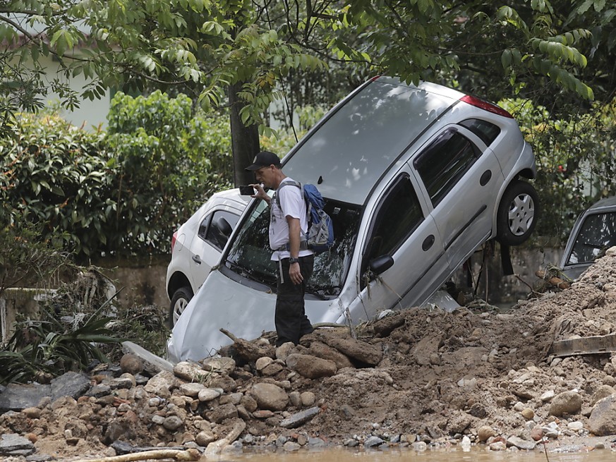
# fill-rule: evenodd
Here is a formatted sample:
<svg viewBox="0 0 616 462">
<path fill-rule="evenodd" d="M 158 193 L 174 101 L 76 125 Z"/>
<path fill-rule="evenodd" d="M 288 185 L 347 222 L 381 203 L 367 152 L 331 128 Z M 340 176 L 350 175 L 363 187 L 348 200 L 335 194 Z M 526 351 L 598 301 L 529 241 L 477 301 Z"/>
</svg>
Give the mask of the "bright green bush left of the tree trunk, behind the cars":
<svg viewBox="0 0 616 462">
<path fill-rule="evenodd" d="M 168 248 L 169 236 L 216 190 L 231 184 L 224 116 L 193 111 L 185 95 L 156 91 L 111 102 L 107 142 L 116 169 L 116 226 L 133 251 Z"/>
</svg>

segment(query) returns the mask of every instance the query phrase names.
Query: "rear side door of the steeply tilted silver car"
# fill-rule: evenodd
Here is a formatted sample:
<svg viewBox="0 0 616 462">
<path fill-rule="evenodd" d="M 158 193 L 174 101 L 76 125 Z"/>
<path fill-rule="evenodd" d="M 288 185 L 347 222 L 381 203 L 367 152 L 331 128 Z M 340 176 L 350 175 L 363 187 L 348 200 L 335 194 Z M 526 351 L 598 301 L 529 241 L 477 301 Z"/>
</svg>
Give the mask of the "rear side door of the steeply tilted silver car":
<svg viewBox="0 0 616 462">
<path fill-rule="evenodd" d="M 464 127 L 445 127 L 412 161 L 454 271 L 492 233 L 504 181 L 492 150 Z"/>
</svg>

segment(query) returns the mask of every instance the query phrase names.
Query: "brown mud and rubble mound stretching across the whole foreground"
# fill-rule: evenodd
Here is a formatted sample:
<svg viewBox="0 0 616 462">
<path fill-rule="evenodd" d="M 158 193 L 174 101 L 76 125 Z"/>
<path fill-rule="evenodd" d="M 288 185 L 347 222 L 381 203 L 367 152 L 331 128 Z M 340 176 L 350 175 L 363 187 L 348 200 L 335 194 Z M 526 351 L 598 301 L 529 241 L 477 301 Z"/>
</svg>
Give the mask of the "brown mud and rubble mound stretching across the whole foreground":
<svg viewBox="0 0 616 462">
<path fill-rule="evenodd" d="M 570 287 L 551 286 L 507 312 L 489 305 L 409 309 L 358 327 L 356 339 L 349 329 L 317 329 L 293 351 L 262 348 L 259 361 L 235 353 L 233 370 L 200 376 L 204 388 L 223 391 L 215 399 L 182 387 L 195 382 L 186 373 L 167 377 L 162 392 L 133 371 L 142 384 L 110 391 L 111 398 L 82 396 L 42 403 L 38 413 L 0 415 L 0 434 L 27 437 L 39 456 L 73 459 L 115 455 L 114 439 L 200 451 L 224 437 L 231 451 L 469 443 L 538 450 L 542 441 L 551 451 L 610 449 L 616 354 L 552 351 L 554 341 L 616 331 L 616 256 L 608 254 Z M 329 363 L 315 372 L 315 364 L 296 364 L 303 356 Z M 92 378 L 99 383 L 104 377 Z M 289 401 L 266 404 L 255 384 L 272 384 Z M 310 411 L 306 422 L 283 425 L 302 411 Z M 167 425 L 170 415 L 178 425 Z"/>
</svg>

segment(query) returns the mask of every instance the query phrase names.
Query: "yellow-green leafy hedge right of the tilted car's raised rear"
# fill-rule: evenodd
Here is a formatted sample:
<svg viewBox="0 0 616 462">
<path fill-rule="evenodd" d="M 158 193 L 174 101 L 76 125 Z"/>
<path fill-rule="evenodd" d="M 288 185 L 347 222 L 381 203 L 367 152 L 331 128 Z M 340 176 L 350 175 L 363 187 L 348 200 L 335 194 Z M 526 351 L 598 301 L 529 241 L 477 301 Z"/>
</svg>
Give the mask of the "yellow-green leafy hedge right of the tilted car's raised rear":
<svg viewBox="0 0 616 462">
<path fill-rule="evenodd" d="M 572 106 L 567 116 L 555 117 L 529 100 L 500 105 L 517 118 L 535 152 L 543 202 L 536 234 L 562 243 L 584 208 L 616 194 L 616 106 L 595 104 L 588 112 Z"/>
</svg>

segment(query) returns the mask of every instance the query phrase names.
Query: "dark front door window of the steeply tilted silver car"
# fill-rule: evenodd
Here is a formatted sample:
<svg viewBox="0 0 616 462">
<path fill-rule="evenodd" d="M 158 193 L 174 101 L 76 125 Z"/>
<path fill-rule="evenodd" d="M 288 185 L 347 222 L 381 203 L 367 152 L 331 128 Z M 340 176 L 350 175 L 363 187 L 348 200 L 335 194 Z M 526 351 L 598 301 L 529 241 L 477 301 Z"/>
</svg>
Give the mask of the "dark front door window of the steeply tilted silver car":
<svg viewBox="0 0 616 462">
<path fill-rule="evenodd" d="M 366 248 L 366 265 L 381 255 L 392 255 L 423 221 L 417 193 L 408 174 L 389 188 L 378 207 Z"/>
</svg>

